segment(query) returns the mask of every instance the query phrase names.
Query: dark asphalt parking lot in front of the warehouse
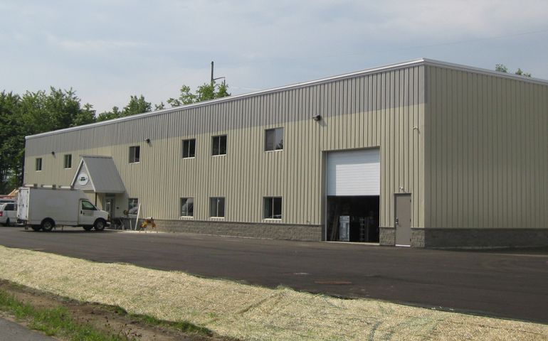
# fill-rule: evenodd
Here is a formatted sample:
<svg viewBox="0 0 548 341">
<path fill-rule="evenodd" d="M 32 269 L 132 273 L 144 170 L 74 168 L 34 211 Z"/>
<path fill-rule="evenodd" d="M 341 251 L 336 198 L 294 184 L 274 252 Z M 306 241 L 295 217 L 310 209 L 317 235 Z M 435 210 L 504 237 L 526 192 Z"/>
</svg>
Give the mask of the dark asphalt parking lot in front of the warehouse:
<svg viewBox="0 0 548 341">
<path fill-rule="evenodd" d="M 22 227 L 0 227 L 0 244 L 261 286 L 548 323 L 548 249 L 440 251 L 198 234 L 47 233 Z"/>
</svg>

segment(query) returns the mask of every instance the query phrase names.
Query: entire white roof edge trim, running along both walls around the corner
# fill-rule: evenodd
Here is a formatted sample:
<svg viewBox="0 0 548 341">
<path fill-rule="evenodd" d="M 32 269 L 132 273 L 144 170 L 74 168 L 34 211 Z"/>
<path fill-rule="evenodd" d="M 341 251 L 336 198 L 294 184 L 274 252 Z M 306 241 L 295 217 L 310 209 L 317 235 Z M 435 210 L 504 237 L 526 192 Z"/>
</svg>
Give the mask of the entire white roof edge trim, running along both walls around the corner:
<svg viewBox="0 0 548 341">
<path fill-rule="evenodd" d="M 101 121 L 101 122 L 95 122 L 95 123 L 91 123 L 91 124 L 85 124 L 83 126 L 73 126 L 73 127 L 65 128 L 65 129 L 59 129 L 59 130 L 54 130 L 54 131 L 46 131 L 46 132 L 41 133 L 41 134 L 25 136 L 25 139 L 28 140 L 28 139 L 33 139 L 33 138 L 42 137 L 42 136 L 65 133 L 67 131 L 77 131 L 77 130 L 93 128 L 94 126 L 103 126 L 103 125 L 108 125 L 108 124 L 115 124 L 115 123 L 120 122 L 120 121 L 140 119 L 142 117 L 149 117 L 149 116 L 155 116 L 155 115 L 160 115 L 160 114 L 167 114 L 169 112 L 176 112 L 176 111 L 179 111 L 179 110 L 186 110 L 186 109 L 191 109 L 191 108 L 195 108 L 195 107 L 203 107 L 203 106 L 206 106 L 206 105 L 209 105 L 209 104 L 229 102 L 229 101 L 242 99 L 242 98 L 246 98 L 246 97 L 258 96 L 260 94 L 270 94 L 270 93 L 273 93 L 273 92 L 280 92 L 280 91 L 283 91 L 283 90 L 298 89 L 300 87 L 306 87 L 306 86 L 309 86 L 309 85 L 318 85 L 318 84 L 322 84 L 322 83 L 334 82 L 336 80 L 342 80 L 344 78 L 359 77 L 359 76 L 362 76 L 362 75 L 368 75 L 368 74 L 372 74 L 372 73 L 376 73 L 376 72 L 384 72 L 384 71 L 399 69 L 399 68 L 403 68 L 403 67 L 416 66 L 416 65 L 431 65 L 431 66 L 448 67 L 448 68 L 452 68 L 452 69 L 455 69 L 455 70 L 476 72 L 476 73 L 482 73 L 484 75 L 494 75 L 494 76 L 497 76 L 497 77 L 509 78 L 509 79 L 512 79 L 512 80 L 521 80 L 521 81 L 524 81 L 524 82 L 533 82 L 533 83 L 537 83 L 537 84 L 548 85 L 548 80 L 542 80 L 540 78 L 523 77 L 523 76 L 520 76 L 520 75 L 514 75 L 512 73 L 497 72 L 495 70 L 488 70 L 488 69 L 483 69 L 483 68 L 480 68 L 480 67 L 473 67 L 473 66 L 455 64 L 455 63 L 447 63 L 447 62 L 442 62 L 441 60 L 434 60 L 434 59 L 428 59 L 428 58 L 418 58 L 418 59 L 415 59 L 415 60 L 409 60 L 409 61 L 401 62 L 401 63 L 394 63 L 394 64 L 389 64 L 389 65 L 384 65 L 384 66 L 379 66 L 379 67 L 372 67 L 372 68 L 369 68 L 369 69 L 356 71 L 356 72 L 350 72 L 350 73 L 346 73 L 346 74 L 343 74 L 343 75 L 336 75 L 336 76 L 332 76 L 332 77 L 321 78 L 319 80 L 311 80 L 311 81 L 308 81 L 308 82 L 295 83 L 293 85 L 285 85 L 283 87 L 274 87 L 272 89 L 249 92 L 247 94 L 237 94 L 235 96 L 228 96 L 228 97 L 223 97 L 223 98 L 218 98 L 218 99 L 211 99 L 209 101 L 204 101 L 204 102 L 199 102 L 199 103 L 194 103 L 194 104 L 186 104 L 186 105 L 183 105 L 181 107 L 162 109 L 162 110 L 157 110 L 157 111 L 154 111 L 154 112 L 144 112 L 142 114 L 135 114 L 135 115 L 131 115 L 131 116 L 120 117 L 118 119 L 109 119 L 107 121 Z"/>
</svg>

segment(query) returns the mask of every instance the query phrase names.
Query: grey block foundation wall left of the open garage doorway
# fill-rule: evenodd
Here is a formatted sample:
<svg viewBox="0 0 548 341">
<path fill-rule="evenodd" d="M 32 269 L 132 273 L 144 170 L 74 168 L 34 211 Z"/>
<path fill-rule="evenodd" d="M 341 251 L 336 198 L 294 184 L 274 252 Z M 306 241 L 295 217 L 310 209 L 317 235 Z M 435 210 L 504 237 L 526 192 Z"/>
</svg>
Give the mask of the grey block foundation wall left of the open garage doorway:
<svg viewBox="0 0 548 341">
<path fill-rule="evenodd" d="M 164 232 L 214 234 L 231 237 L 253 237 L 315 241 L 322 240 L 321 225 L 261 224 L 245 222 L 211 222 L 196 220 L 154 220 L 156 229 Z"/>
</svg>

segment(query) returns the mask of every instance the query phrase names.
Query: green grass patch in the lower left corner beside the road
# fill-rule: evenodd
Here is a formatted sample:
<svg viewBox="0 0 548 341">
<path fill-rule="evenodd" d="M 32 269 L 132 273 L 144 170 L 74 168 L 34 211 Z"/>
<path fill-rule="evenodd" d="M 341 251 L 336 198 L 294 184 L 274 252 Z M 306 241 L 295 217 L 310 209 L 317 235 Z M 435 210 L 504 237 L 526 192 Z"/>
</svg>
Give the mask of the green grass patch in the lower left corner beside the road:
<svg viewBox="0 0 548 341">
<path fill-rule="evenodd" d="M 123 332 L 105 332 L 87 323 L 78 323 L 70 312 L 62 307 L 34 308 L 19 301 L 15 296 L 0 290 L 0 310 L 13 314 L 18 320 L 28 321 L 28 327 L 49 336 L 59 336 L 78 341 L 127 341 L 133 337 Z"/>
</svg>

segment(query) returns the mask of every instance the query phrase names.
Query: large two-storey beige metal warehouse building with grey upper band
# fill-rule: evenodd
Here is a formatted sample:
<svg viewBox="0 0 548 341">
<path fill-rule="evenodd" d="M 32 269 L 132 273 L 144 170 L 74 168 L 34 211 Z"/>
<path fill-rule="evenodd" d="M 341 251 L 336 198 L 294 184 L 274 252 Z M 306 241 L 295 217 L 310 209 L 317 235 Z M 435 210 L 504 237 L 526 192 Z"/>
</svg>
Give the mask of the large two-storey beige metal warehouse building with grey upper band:
<svg viewBox="0 0 548 341">
<path fill-rule="evenodd" d="M 25 162 L 172 232 L 548 244 L 548 82 L 435 60 L 27 136 Z"/>
</svg>

